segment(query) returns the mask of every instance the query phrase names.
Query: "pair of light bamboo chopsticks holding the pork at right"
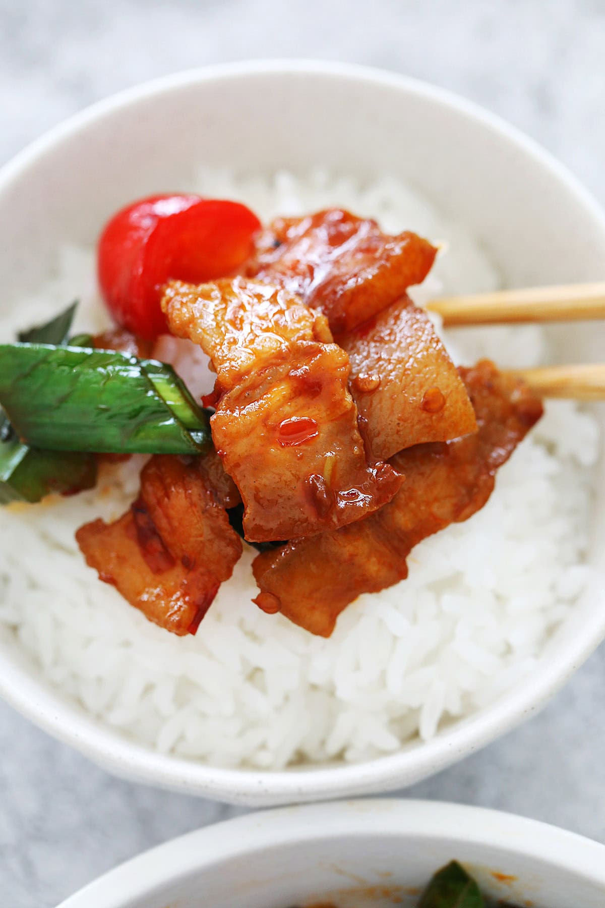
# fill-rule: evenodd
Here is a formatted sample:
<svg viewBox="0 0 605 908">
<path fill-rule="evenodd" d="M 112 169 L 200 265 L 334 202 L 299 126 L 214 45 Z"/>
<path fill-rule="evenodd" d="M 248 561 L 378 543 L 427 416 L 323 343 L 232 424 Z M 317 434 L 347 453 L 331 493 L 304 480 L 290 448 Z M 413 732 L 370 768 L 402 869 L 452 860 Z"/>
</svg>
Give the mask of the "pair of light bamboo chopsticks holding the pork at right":
<svg viewBox="0 0 605 908">
<path fill-rule="evenodd" d="M 605 319 L 605 281 L 440 297 L 426 308 L 446 327 Z M 542 397 L 605 400 L 605 362 L 511 371 Z"/>
</svg>

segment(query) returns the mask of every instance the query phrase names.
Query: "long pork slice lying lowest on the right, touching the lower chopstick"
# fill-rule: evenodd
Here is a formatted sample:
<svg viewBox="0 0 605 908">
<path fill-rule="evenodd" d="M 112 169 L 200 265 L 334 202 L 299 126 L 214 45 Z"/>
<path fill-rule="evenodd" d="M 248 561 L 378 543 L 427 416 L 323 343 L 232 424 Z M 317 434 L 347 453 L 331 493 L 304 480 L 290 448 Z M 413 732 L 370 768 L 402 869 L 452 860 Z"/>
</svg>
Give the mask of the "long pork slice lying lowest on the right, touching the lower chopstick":
<svg viewBox="0 0 605 908">
<path fill-rule="evenodd" d="M 542 402 L 489 360 L 460 374 L 478 432 L 396 454 L 392 463 L 405 473 L 405 484 L 370 517 L 262 552 L 253 564 L 259 607 L 329 637 L 357 596 L 407 577 L 406 558 L 418 542 L 483 508 L 496 470 L 540 419 Z"/>
</svg>

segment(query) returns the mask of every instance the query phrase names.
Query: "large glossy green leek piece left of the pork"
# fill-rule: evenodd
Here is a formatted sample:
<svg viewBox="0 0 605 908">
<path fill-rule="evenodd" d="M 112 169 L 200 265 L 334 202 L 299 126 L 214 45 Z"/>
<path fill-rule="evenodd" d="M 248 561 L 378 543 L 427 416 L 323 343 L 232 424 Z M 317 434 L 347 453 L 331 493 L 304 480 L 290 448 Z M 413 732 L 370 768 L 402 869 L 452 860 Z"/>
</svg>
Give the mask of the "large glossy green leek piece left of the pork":
<svg viewBox="0 0 605 908">
<path fill-rule="evenodd" d="M 111 350 L 0 346 L 0 403 L 35 448 L 199 454 L 210 426 L 171 366 Z"/>
</svg>

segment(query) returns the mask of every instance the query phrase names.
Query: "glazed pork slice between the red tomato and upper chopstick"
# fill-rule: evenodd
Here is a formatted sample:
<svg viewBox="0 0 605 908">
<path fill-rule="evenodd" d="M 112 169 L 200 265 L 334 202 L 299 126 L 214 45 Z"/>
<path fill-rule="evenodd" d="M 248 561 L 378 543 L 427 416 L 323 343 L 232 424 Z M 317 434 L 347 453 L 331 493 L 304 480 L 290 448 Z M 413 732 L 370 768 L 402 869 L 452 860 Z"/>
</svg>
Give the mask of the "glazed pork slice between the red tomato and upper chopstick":
<svg viewBox="0 0 605 908">
<path fill-rule="evenodd" d="M 426 313 L 405 295 L 436 249 L 415 233 L 329 209 L 278 218 L 260 234 L 248 273 L 323 312 L 351 362 L 350 390 L 370 461 L 476 431 L 473 407 Z"/>
</svg>

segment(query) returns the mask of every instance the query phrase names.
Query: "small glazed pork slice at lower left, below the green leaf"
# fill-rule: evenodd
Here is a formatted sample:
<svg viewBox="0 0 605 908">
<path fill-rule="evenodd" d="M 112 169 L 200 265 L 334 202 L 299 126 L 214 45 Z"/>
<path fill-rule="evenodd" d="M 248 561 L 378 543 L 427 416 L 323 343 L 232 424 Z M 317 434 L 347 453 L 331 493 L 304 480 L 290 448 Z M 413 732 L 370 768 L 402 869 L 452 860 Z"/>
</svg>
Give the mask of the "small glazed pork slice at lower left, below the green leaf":
<svg viewBox="0 0 605 908">
<path fill-rule="evenodd" d="M 154 624 L 195 634 L 220 584 L 242 551 L 220 502 L 237 493 L 210 458 L 154 455 L 141 471 L 141 492 L 118 520 L 94 520 L 76 533 L 87 564 Z"/>
</svg>

